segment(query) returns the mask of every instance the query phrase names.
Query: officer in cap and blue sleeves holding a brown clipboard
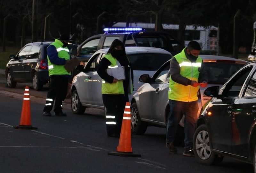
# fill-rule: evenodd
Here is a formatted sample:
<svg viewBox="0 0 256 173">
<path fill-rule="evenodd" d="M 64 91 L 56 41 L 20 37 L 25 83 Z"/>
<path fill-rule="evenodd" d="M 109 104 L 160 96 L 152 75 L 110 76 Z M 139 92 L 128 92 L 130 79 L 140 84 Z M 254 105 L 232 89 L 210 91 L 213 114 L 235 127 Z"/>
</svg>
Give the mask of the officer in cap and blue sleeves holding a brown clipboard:
<svg viewBox="0 0 256 173">
<path fill-rule="evenodd" d="M 59 39 L 47 47 L 47 59 L 49 69 L 49 90 L 47 93 L 46 103 L 43 110 L 44 116 L 52 116 L 51 110 L 54 103 L 54 115 L 67 116 L 62 112 L 62 102 L 67 94 L 68 79 L 71 73 L 68 72 L 64 65 L 70 60 L 68 50 L 67 35 L 61 35 Z"/>
</svg>

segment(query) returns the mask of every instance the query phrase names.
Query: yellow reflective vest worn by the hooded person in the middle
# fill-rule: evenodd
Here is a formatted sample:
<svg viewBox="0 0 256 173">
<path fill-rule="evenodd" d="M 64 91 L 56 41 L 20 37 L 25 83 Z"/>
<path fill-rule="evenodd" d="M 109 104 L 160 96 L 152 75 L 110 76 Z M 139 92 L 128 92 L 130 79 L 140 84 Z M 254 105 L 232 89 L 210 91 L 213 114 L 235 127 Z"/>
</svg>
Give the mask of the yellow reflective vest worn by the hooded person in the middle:
<svg viewBox="0 0 256 173">
<path fill-rule="evenodd" d="M 116 68 L 121 66 L 121 64 L 116 60 L 116 58 L 113 57 L 110 53 L 103 56 L 103 58 L 107 58 L 108 61 L 111 62 L 111 65 L 109 65 L 108 68 Z M 130 84 L 129 94 L 132 94 L 133 87 L 132 87 L 131 70 L 129 75 L 129 84 Z M 105 80 L 102 80 L 101 93 L 102 94 L 124 94 L 123 80 L 118 80 L 116 83 L 108 83 Z"/>
</svg>

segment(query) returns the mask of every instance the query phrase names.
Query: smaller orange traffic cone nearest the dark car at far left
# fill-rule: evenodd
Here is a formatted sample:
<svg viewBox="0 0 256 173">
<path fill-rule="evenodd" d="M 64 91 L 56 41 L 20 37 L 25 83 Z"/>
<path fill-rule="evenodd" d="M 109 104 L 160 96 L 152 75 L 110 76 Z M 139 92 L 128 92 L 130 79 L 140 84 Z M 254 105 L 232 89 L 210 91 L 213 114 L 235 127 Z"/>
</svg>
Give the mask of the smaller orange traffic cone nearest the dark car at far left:
<svg viewBox="0 0 256 173">
<path fill-rule="evenodd" d="M 20 116 L 20 125 L 14 126 L 15 129 L 37 129 L 31 125 L 30 120 L 30 96 L 29 96 L 29 87 L 25 87 L 22 110 Z"/>
</svg>

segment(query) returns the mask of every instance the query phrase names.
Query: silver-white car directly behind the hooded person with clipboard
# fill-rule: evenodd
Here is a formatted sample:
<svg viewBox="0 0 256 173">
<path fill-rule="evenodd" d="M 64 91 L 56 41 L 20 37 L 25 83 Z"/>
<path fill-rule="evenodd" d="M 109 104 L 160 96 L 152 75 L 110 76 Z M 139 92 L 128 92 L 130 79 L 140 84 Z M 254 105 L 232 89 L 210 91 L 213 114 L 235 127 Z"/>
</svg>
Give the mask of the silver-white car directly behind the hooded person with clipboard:
<svg viewBox="0 0 256 173">
<path fill-rule="evenodd" d="M 143 84 L 139 81 L 140 75 L 145 73 L 153 75 L 162 64 L 172 58 L 170 52 L 160 48 L 125 47 L 125 51 L 133 69 L 133 94 Z M 102 79 L 97 73 L 97 66 L 107 52 L 108 49 L 95 52 L 84 69 L 73 78 L 71 86 L 73 113 L 83 114 L 86 107 L 104 109 L 101 94 Z"/>
</svg>

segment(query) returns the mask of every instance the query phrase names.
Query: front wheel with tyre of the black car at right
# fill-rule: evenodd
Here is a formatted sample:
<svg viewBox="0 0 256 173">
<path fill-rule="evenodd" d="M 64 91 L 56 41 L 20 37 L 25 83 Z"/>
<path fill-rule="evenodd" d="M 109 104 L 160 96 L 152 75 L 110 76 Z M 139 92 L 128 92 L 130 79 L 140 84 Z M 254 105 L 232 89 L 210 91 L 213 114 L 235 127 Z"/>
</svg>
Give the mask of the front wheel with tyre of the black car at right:
<svg viewBox="0 0 256 173">
<path fill-rule="evenodd" d="M 219 156 L 210 149 L 209 135 L 205 124 L 196 129 L 193 137 L 193 150 L 196 161 L 201 164 L 218 164 L 223 160 L 223 156 Z"/>
</svg>

